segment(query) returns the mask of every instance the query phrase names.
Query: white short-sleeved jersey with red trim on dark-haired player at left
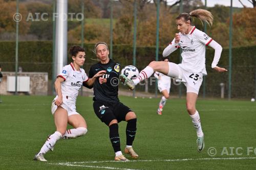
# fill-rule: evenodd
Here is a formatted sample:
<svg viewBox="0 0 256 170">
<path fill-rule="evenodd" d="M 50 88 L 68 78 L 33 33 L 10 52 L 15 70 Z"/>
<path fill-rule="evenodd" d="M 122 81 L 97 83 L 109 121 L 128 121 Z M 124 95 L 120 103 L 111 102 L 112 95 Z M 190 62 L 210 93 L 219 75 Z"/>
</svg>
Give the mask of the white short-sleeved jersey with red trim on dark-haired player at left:
<svg viewBox="0 0 256 170">
<path fill-rule="evenodd" d="M 72 63 L 65 65 L 57 77 L 64 79 L 64 81 L 61 82 L 62 96 L 68 95 L 75 98 L 78 95 L 78 90 L 82 87 L 82 83 L 89 80 L 84 69 L 80 68 L 80 70 L 77 71 Z"/>
</svg>

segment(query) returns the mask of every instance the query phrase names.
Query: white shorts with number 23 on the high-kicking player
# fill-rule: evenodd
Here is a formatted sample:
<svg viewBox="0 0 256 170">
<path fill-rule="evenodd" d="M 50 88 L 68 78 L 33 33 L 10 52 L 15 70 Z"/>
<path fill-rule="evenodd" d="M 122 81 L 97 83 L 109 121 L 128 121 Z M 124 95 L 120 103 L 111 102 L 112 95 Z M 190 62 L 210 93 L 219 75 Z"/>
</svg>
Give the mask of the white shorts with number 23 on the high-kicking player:
<svg viewBox="0 0 256 170">
<path fill-rule="evenodd" d="M 203 82 L 202 72 L 188 72 L 181 68 L 178 64 L 169 62 L 168 76 L 179 79 L 187 87 L 187 93 L 193 92 L 198 94 L 200 86 Z"/>
</svg>

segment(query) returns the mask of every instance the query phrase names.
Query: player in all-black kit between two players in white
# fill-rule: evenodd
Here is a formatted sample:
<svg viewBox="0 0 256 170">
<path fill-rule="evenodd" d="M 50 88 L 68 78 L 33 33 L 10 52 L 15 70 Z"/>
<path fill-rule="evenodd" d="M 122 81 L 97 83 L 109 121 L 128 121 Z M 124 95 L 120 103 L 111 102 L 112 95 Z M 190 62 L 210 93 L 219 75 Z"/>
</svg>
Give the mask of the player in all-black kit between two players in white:
<svg viewBox="0 0 256 170">
<path fill-rule="evenodd" d="M 120 64 L 109 58 L 109 47 L 105 42 L 95 44 L 95 53 L 99 62 L 91 66 L 89 78 L 97 72 L 106 70 L 103 77 L 95 81 L 93 85 L 94 98 L 93 108 L 101 122 L 109 126 L 110 141 L 115 151 L 116 161 L 128 161 L 120 149 L 120 138 L 118 134 L 118 123 L 125 120 L 126 126 L 126 147 L 124 153 L 130 154 L 132 158 L 138 158 L 134 152 L 132 144 L 136 134 L 137 118 L 135 113 L 118 99 L 118 81 Z"/>
</svg>

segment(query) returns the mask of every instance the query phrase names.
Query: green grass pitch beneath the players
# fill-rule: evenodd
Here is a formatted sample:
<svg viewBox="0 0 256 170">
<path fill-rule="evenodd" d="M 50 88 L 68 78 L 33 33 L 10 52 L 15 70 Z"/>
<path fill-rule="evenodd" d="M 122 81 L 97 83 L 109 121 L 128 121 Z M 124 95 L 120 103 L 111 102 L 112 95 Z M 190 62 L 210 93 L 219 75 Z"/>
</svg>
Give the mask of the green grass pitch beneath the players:
<svg viewBox="0 0 256 170">
<path fill-rule="evenodd" d="M 53 96 L 2 96 L 0 104 L 0 169 L 255 169 L 256 103 L 198 100 L 205 149 L 197 152 L 196 130 L 184 99 L 171 99 L 157 115 L 159 99 L 120 97 L 138 117 L 134 149 L 139 158 L 114 162 L 109 128 L 93 112 L 92 98 L 79 97 L 77 111 L 88 133 L 59 140 L 48 162 L 32 160 L 48 134 L 55 131 L 50 111 Z M 119 124 L 121 148 L 126 123 Z M 211 147 L 217 151 L 215 156 Z M 233 148 L 232 148 L 233 147 Z M 249 148 L 250 147 L 250 148 Z M 236 152 L 237 150 L 237 152 Z M 127 156 L 129 159 L 129 156 Z"/>
</svg>

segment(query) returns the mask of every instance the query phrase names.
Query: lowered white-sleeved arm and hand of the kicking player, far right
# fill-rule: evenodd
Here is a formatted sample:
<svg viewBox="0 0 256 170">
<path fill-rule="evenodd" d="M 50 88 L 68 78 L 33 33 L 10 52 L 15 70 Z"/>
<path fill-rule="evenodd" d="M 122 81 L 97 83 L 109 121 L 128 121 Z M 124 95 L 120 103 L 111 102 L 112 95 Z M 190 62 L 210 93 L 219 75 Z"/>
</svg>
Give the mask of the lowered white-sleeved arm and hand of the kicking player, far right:
<svg viewBox="0 0 256 170">
<path fill-rule="evenodd" d="M 215 40 L 212 40 L 209 44 L 210 47 L 214 48 L 215 54 L 214 54 L 214 61 L 211 63 L 211 68 L 215 69 L 218 72 L 224 72 L 227 71 L 225 68 L 218 67 L 217 64 L 221 57 L 222 47 L 221 45 L 216 42 Z"/>
</svg>

